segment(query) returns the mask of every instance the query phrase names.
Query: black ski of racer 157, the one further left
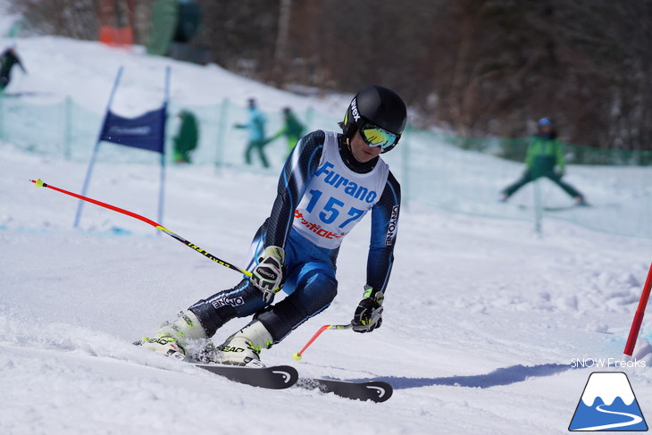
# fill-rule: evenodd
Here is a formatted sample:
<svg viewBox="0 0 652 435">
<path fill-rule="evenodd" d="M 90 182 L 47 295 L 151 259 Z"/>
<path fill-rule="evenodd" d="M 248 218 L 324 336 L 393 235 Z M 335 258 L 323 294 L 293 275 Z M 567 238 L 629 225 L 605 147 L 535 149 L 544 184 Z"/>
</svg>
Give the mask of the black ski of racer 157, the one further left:
<svg viewBox="0 0 652 435">
<path fill-rule="evenodd" d="M 192 363 L 196 367 L 213 372 L 230 381 L 235 381 L 263 389 L 287 389 L 297 383 L 297 369 L 289 365 L 271 367 L 243 367 L 226 364 Z"/>
</svg>

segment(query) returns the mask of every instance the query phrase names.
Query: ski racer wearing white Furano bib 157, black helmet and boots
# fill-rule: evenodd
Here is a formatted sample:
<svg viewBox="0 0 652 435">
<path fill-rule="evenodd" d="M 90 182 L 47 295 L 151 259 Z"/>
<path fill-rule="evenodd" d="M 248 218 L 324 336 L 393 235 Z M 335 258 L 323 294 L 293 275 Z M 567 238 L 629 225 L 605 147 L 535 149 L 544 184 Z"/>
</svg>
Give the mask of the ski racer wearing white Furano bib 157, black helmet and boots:
<svg viewBox="0 0 652 435">
<path fill-rule="evenodd" d="M 380 327 L 400 207 L 399 184 L 380 154 L 397 145 L 405 121 L 401 97 L 372 86 L 351 100 L 341 134 L 316 130 L 301 138 L 280 175 L 272 213 L 255 234 L 251 278 L 191 305 L 141 344 L 183 359 L 188 339 L 208 339 L 231 319 L 253 314 L 208 353 L 222 364 L 262 366 L 261 349 L 279 343 L 337 295 L 339 245 L 370 210 L 366 283 L 352 323 L 356 332 Z M 272 305 L 280 289 L 288 296 Z"/>
</svg>

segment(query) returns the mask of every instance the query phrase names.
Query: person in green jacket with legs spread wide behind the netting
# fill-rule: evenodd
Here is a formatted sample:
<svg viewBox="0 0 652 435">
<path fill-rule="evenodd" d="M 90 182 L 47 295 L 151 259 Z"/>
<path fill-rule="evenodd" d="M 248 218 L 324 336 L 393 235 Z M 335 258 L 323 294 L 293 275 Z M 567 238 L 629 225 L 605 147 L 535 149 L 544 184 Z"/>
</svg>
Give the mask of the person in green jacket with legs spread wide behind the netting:
<svg viewBox="0 0 652 435">
<path fill-rule="evenodd" d="M 546 177 L 573 197 L 575 204 L 587 205 L 580 191 L 562 181 L 565 169 L 564 150 L 561 142 L 556 139 L 555 123 L 550 118 L 541 118 L 538 125 L 539 132 L 532 137 L 528 146 L 525 171 L 519 180 L 503 189 L 500 193 L 500 201 L 505 202 L 516 190 L 529 182 Z"/>
</svg>

